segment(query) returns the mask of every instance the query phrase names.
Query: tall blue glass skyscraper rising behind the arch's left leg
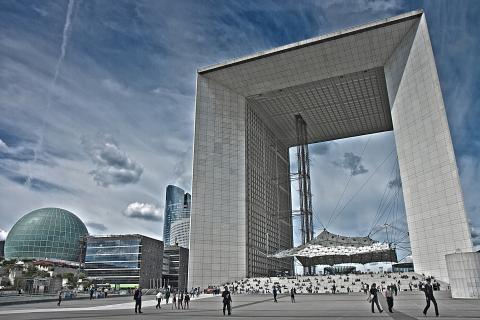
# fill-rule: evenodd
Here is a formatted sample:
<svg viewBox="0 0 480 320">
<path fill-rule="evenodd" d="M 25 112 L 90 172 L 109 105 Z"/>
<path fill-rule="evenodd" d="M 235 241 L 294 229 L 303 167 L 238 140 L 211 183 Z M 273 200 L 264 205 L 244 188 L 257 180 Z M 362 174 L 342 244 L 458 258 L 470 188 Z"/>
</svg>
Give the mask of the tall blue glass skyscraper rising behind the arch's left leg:
<svg viewBox="0 0 480 320">
<path fill-rule="evenodd" d="M 192 196 L 182 188 L 168 185 L 165 196 L 165 214 L 163 219 L 163 241 L 165 244 L 174 244 L 172 238 L 172 224 L 180 219 L 190 220 Z M 177 235 L 178 236 L 178 235 Z"/>
</svg>

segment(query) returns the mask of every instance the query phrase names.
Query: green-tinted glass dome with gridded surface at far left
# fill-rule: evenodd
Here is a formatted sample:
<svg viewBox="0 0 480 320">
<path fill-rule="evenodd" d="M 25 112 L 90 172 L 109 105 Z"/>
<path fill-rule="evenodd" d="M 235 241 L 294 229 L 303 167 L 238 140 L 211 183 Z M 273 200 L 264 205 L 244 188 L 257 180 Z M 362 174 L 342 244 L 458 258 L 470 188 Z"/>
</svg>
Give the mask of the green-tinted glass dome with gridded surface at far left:
<svg viewBox="0 0 480 320">
<path fill-rule="evenodd" d="M 5 240 L 5 259 L 79 262 L 85 224 L 70 211 L 43 208 L 24 215 Z"/>
</svg>

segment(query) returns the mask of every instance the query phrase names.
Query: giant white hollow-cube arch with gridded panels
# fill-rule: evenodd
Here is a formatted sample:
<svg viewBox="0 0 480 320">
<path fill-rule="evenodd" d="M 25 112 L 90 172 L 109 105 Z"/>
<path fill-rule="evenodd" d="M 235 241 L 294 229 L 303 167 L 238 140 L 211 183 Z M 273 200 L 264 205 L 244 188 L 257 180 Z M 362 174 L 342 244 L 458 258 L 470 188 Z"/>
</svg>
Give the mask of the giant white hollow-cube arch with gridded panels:
<svg viewBox="0 0 480 320">
<path fill-rule="evenodd" d="M 415 269 L 448 281 L 472 242 L 422 11 L 202 68 L 197 75 L 189 284 L 292 260 L 288 149 L 393 130 Z M 268 241 L 267 241 L 268 238 Z"/>
</svg>

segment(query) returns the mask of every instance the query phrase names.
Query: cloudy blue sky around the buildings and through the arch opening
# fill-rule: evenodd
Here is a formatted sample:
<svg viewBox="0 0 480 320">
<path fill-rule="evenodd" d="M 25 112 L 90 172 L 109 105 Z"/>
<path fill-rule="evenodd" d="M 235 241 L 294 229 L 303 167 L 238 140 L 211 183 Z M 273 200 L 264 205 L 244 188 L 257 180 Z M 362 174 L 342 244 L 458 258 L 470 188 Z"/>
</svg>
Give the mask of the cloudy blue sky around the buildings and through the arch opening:
<svg viewBox="0 0 480 320">
<path fill-rule="evenodd" d="M 426 12 L 480 244 L 477 1 L 4 0 L 0 229 L 33 209 L 58 206 L 91 233 L 161 238 L 167 184 L 191 188 L 198 67 L 418 8 Z M 352 196 L 393 146 L 390 132 L 312 145 L 316 221 L 348 202 L 329 228 L 368 233 L 395 159 Z"/>
</svg>

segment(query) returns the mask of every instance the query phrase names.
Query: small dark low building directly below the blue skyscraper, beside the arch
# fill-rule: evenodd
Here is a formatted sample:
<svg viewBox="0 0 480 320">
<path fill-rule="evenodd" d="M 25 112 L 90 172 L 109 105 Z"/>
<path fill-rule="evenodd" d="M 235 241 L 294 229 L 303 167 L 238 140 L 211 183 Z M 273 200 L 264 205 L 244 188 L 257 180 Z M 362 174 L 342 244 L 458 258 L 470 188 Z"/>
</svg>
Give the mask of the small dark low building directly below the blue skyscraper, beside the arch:
<svg viewBox="0 0 480 320">
<path fill-rule="evenodd" d="M 163 287 L 185 291 L 188 287 L 188 249 L 165 247 L 163 255 Z"/>
</svg>

